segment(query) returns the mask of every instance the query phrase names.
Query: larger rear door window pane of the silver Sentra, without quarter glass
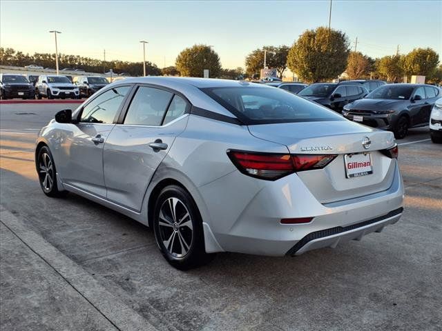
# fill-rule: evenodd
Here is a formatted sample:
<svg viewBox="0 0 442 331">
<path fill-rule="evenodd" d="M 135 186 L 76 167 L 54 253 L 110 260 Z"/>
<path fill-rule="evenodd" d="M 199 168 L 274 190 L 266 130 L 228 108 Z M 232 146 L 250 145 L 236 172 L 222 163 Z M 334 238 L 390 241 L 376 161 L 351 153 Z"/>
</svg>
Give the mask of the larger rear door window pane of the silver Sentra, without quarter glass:
<svg viewBox="0 0 442 331">
<path fill-rule="evenodd" d="M 140 86 L 124 119 L 124 124 L 160 126 L 173 94 L 159 88 Z"/>
</svg>

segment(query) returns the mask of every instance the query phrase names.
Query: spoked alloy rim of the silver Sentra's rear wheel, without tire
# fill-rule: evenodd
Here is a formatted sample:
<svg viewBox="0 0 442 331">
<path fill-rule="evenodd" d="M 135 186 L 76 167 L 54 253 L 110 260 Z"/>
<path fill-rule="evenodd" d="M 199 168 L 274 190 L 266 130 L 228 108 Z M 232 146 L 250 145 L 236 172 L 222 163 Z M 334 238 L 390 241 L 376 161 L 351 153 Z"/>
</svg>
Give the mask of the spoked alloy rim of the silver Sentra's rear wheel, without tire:
<svg viewBox="0 0 442 331">
<path fill-rule="evenodd" d="M 158 228 L 166 250 L 173 257 L 185 257 L 193 242 L 193 225 L 189 210 L 180 199 L 171 197 L 164 201 L 160 208 Z"/>
</svg>

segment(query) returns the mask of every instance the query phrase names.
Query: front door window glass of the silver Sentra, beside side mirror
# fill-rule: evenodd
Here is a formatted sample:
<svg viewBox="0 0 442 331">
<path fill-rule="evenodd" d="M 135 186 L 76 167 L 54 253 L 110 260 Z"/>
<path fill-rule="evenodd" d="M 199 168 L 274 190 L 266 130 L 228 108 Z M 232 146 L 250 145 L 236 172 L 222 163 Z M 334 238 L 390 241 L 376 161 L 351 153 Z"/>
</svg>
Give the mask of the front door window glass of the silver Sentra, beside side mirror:
<svg viewBox="0 0 442 331">
<path fill-rule="evenodd" d="M 119 106 L 121 106 L 130 88 L 130 86 L 120 86 L 99 94 L 84 107 L 80 121 L 86 123 L 113 123 Z"/>
</svg>

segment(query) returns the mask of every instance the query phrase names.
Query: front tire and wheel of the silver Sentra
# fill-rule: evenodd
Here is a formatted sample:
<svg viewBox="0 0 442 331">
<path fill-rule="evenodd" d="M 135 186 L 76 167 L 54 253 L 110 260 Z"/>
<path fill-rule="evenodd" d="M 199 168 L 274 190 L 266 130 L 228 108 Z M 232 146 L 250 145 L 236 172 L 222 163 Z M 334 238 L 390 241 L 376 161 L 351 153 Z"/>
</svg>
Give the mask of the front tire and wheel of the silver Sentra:
<svg viewBox="0 0 442 331">
<path fill-rule="evenodd" d="M 54 198 L 66 197 L 68 191 L 59 190 L 58 188 L 57 170 L 55 169 L 54 159 L 48 146 L 43 146 L 39 149 L 35 163 L 40 187 L 44 194 Z"/>
</svg>

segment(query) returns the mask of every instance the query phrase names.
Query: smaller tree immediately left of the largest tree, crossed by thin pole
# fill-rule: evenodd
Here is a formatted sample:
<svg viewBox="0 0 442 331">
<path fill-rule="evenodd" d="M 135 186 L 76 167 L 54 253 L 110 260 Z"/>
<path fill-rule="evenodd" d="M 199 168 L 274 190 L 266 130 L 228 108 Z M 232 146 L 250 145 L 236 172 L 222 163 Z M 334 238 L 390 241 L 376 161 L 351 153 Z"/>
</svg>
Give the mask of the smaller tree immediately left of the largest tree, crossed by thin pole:
<svg viewBox="0 0 442 331">
<path fill-rule="evenodd" d="M 289 54 L 289 46 L 281 45 L 264 46 L 253 50 L 246 57 L 246 72 L 249 76 L 260 74 L 260 70 L 264 68 L 264 52 L 266 54 L 266 66 L 276 69 L 278 77 L 282 78 L 284 70 L 287 69 L 287 55 Z"/>
</svg>

